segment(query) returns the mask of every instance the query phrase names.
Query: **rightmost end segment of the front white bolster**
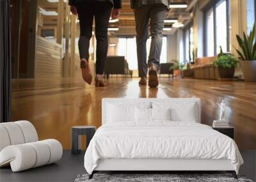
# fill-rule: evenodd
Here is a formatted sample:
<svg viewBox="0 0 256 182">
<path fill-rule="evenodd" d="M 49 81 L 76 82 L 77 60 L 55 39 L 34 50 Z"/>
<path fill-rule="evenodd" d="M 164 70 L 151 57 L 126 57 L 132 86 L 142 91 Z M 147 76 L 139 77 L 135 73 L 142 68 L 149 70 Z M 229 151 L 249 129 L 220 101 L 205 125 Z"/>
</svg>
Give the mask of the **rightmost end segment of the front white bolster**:
<svg viewBox="0 0 256 182">
<path fill-rule="evenodd" d="M 41 142 L 44 142 L 49 146 L 50 149 L 50 159 L 47 162 L 48 163 L 53 163 L 61 159 L 63 149 L 61 146 L 61 143 L 58 140 L 54 139 L 47 139 L 47 140 L 42 140 Z"/>
</svg>

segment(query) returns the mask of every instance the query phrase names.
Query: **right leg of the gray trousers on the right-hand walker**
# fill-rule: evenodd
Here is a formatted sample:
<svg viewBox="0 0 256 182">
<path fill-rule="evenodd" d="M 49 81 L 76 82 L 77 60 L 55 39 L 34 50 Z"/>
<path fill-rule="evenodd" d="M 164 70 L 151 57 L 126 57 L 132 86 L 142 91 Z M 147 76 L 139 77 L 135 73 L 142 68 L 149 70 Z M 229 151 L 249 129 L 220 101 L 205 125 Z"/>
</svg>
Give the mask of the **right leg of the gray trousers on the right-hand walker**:
<svg viewBox="0 0 256 182">
<path fill-rule="evenodd" d="M 151 44 L 148 64 L 154 63 L 157 67 L 160 64 L 165 13 L 166 6 L 163 4 L 154 4 L 149 13 Z"/>
</svg>

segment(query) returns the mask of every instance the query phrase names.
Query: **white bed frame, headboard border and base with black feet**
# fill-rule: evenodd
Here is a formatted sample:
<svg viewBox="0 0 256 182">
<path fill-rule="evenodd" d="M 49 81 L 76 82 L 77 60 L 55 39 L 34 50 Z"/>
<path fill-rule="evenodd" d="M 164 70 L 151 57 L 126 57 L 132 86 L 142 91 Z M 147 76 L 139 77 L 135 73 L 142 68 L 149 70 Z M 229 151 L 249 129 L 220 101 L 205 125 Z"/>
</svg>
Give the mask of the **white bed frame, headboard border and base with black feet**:
<svg viewBox="0 0 256 182">
<path fill-rule="evenodd" d="M 195 102 L 198 104 L 198 116 L 200 116 L 200 99 L 199 98 L 104 98 L 102 99 L 102 124 L 106 123 L 106 107 L 107 103 L 111 102 L 152 102 L 152 101 L 183 101 Z M 197 123 L 200 123 L 198 117 Z M 211 160 L 211 159 L 159 159 L 159 158 L 109 158 L 99 160 L 95 170 L 90 174 L 89 179 L 92 179 L 93 174 L 102 171 L 118 171 L 118 172 L 140 172 L 147 171 L 147 173 L 169 173 L 170 171 L 226 171 L 232 174 L 237 179 L 236 171 L 230 160 Z"/>
</svg>

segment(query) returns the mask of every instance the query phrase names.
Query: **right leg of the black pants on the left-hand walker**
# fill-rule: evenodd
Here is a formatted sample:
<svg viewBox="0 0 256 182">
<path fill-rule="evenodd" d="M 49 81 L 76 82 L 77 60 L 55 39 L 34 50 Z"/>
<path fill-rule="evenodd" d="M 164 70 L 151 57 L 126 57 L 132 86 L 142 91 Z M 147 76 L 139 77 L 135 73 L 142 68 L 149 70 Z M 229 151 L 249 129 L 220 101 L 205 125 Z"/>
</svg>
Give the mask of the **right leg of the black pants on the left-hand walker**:
<svg viewBox="0 0 256 182">
<path fill-rule="evenodd" d="M 108 23 L 112 6 L 111 3 L 95 2 L 96 74 L 100 75 L 104 72 L 108 54 Z"/>
</svg>

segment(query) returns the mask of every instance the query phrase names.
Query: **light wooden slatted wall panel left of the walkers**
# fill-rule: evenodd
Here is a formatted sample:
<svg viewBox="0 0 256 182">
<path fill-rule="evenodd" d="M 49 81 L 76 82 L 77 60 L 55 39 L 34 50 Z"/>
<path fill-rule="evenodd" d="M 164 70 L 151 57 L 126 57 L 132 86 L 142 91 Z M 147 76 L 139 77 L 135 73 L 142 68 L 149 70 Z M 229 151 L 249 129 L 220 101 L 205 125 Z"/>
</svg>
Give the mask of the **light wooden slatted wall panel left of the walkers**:
<svg viewBox="0 0 256 182">
<path fill-rule="evenodd" d="M 35 79 L 61 77 L 61 45 L 36 36 Z"/>
</svg>

